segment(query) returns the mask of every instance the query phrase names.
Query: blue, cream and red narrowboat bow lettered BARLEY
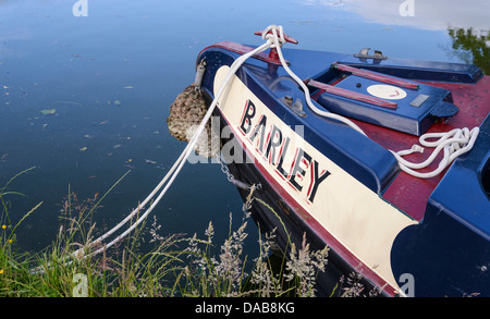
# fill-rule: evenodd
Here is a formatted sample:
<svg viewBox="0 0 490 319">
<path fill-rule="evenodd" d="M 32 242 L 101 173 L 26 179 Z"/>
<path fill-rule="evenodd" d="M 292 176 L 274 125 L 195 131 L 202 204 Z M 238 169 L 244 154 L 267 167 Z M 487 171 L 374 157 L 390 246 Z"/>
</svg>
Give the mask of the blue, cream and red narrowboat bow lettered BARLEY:
<svg viewBox="0 0 490 319">
<path fill-rule="evenodd" d="M 199 53 L 208 106 L 254 49 L 222 41 Z M 327 294 L 357 271 L 388 296 L 489 296 L 490 77 L 369 49 L 280 50 L 247 59 L 215 110 L 233 176 L 261 185 L 252 210 L 260 229 L 277 228 L 283 247 L 304 233 L 328 245 Z"/>
</svg>

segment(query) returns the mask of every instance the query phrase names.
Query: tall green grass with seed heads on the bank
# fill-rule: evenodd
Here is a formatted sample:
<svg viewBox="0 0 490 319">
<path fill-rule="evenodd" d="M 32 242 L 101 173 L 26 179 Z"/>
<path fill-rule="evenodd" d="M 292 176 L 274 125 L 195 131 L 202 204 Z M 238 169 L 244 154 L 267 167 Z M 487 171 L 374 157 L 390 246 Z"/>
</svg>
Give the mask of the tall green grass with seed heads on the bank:
<svg viewBox="0 0 490 319">
<path fill-rule="evenodd" d="M 113 247 L 91 255 L 103 247 L 91 245 L 95 234 L 101 231 L 93 216 L 106 195 L 78 200 L 69 191 L 52 244 L 35 254 L 19 251 L 15 231 L 42 203 L 12 224 L 5 197 L 24 196 L 8 191 L 8 186 L 29 170 L 0 189 L 0 296 L 315 296 L 316 274 L 324 269 L 328 249 L 310 251 L 304 241 L 302 247 L 292 244 L 287 258 L 278 257 L 271 254 L 273 234 L 260 235 L 259 256 L 252 259 L 243 251 L 247 218 L 238 229 L 230 228 L 228 238 L 217 246 L 211 222 L 203 237 L 161 236 L 161 225 L 154 216 Z M 250 192 L 244 207 L 254 199 Z M 79 248 L 84 248 L 83 256 L 73 257 Z M 247 268 L 252 269 L 249 273 Z"/>
</svg>

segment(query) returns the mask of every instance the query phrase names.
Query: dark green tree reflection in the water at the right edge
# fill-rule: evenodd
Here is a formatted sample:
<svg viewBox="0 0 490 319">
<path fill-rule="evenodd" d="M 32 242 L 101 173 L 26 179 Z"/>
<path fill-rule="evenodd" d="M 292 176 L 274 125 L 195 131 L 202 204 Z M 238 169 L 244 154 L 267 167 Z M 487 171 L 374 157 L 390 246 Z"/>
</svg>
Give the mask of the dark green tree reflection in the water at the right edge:
<svg viewBox="0 0 490 319">
<path fill-rule="evenodd" d="M 485 34 L 485 32 L 482 32 Z M 455 53 L 467 63 L 480 66 L 485 74 L 490 74 L 490 33 L 477 35 L 470 27 L 449 28 L 449 35 L 453 39 Z M 468 57 L 468 53 L 470 57 Z M 470 58 L 470 59 L 468 59 Z M 468 61 L 469 60 L 469 61 Z"/>
</svg>

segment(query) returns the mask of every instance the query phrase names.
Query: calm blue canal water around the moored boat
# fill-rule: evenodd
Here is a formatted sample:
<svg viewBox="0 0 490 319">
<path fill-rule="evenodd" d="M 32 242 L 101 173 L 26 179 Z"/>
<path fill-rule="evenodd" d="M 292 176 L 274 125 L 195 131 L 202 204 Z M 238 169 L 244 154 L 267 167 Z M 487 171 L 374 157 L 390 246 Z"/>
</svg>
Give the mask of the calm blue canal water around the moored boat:
<svg viewBox="0 0 490 319">
<path fill-rule="evenodd" d="M 59 229 L 69 192 L 105 194 L 94 220 L 113 226 L 164 176 L 185 144 L 166 119 L 194 79 L 199 51 L 217 41 L 260 45 L 278 24 L 297 48 L 476 63 L 490 73 L 487 0 L 42 0 L 0 1 L 0 189 L 17 221 L 17 246 L 37 251 Z M 287 45 L 292 46 L 292 45 Z M 294 71 L 294 70 L 293 70 Z M 243 218 L 217 163 L 187 163 L 154 210 L 162 235 L 216 242 Z M 246 249 L 257 249 L 249 222 Z"/>
</svg>

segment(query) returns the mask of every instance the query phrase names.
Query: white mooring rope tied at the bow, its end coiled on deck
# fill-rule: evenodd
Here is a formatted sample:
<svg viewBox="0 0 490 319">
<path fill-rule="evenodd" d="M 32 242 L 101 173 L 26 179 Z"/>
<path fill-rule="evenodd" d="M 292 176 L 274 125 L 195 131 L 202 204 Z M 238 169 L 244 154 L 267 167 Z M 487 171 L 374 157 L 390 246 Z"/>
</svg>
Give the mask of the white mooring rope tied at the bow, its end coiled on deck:
<svg viewBox="0 0 490 319">
<path fill-rule="evenodd" d="M 154 188 L 154 191 L 145 198 L 145 200 L 143 200 L 137 208 L 135 208 L 125 219 L 123 219 L 120 223 L 118 223 L 114 228 L 112 228 L 110 231 L 108 231 L 107 233 L 105 233 L 103 235 L 101 235 L 100 237 L 98 237 L 97 240 L 90 242 L 86 247 L 79 248 L 77 250 L 75 250 L 74 253 L 72 253 L 69 258 L 85 258 L 88 256 L 93 256 L 93 255 L 97 255 L 106 249 L 108 249 L 109 247 L 111 247 L 112 245 L 114 245 L 115 243 L 118 243 L 119 241 L 121 241 L 123 237 L 125 237 L 130 232 L 132 232 L 137 225 L 139 225 L 146 218 L 147 216 L 155 209 L 155 207 L 158 205 L 158 203 L 161 200 L 161 198 L 163 197 L 163 195 L 167 193 L 167 191 L 169 189 L 169 187 L 172 185 L 172 183 L 174 182 L 176 175 L 179 174 L 179 172 L 181 171 L 181 169 L 183 168 L 185 161 L 187 160 L 187 158 L 191 156 L 191 154 L 194 151 L 194 147 L 198 140 L 199 135 L 203 133 L 203 130 L 206 126 L 206 123 L 208 122 L 208 120 L 210 119 L 217 102 L 220 98 L 220 96 L 223 94 L 223 91 L 228 88 L 230 81 L 232 79 L 232 76 L 236 73 L 236 71 L 242 66 L 242 64 L 250 57 L 258 54 L 269 48 L 275 48 L 278 51 L 278 56 L 280 58 L 281 64 L 284 68 L 284 70 L 287 72 L 287 74 L 301 86 L 301 88 L 303 89 L 303 91 L 305 93 L 305 98 L 306 98 L 306 102 L 308 105 L 308 107 L 318 115 L 324 116 L 324 118 L 329 118 L 329 119 L 334 119 L 338 121 L 341 121 L 345 124 L 347 124 L 348 126 L 351 126 L 352 128 L 356 130 L 357 132 L 359 132 L 363 135 L 366 135 L 363 130 L 360 130 L 354 122 L 352 122 L 351 120 L 339 115 L 339 114 L 334 114 L 331 112 L 328 112 L 326 110 L 321 110 L 318 109 L 311 101 L 310 96 L 309 96 L 309 89 L 308 87 L 304 84 L 304 82 L 297 77 L 296 74 L 294 74 L 291 69 L 287 66 L 286 61 L 284 60 L 284 57 L 282 54 L 281 51 L 281 47 L 283 44 L 286 42 L 285 38 L 284 38 L 284 32 L 283 32 L 283 27 L 282 26 L 277 26 L 277 25 L 270 25 L 268 26 L 261 34 L 262 38 L 266 40 L 266 42 L 259 47 L 257 47 L 256 49 L 241 56 L 240 58 L 237 58 L 232 65 L 230 66 L 230 70 L 226 74 L 226 77 L 224 78 L 223 83 L 221 84 L 220 89 L 218 90 L 217 95 L 215 96 L 215 99 L 212 100 L 211 105 L 209 106 L 208 111 L 206 112 L 205 116 L 203 118 L 199 126 L 197 127 L 197 130 L 194 133 L 194 136 L 192 137 L 192 139 L 188 142 L 187 146 L 185 147 L 185 149 L 182 151 L 181 156 L 177 158 L 177 160 L 175 161 L 175 163 L 172 165 L 172 168 L 170 169 L 170 171 L 166 174 L 166 176 L 160 181 L 160 183 Z M 404 155 L 407 154 L 412 154 L 414 151 L 420 151 L 420 148 L 413 148 L 411 150 L 405 150 L 405 151 L 399 151 L 399 152 L 394 152 L 392 151 L 392 154 L 395 156 L 395 158 L 397 159 L 400 167 L 402 168 L 402 170 L 404 170 L 405 172 L 419 176 L 419 177 L 428 177 L 428 176 L 432 176 L 436 175 L 438 173 L 440 173 L 454 158 L 456 158 L 457 156 L 460 156 L 461 154 L 464 154 L 466 151 L 468 151 L 469 149 L 471 149 L 473 145 L 475 144 L 476 137 L 478 135 L 478 127 L 475 127 L 474 130 L 469 131 L 468 128 L 463 128 L 463 130 L 453 130 L 449 133 L 431 133 L 431 134 L 426 134 L 424 136 L 420 137 L 420 144 L 425 145 L 425 146 L 437 146 L 434 152 L 432 154 L 432 156 L 426 160 L 424 163 L 419 163 L 419 164 L 414 164 L 411 163 L 408 161 L 406 161 L 405 159 L 403 159 L 402 157 Z M 426 138 L 431 138 L 431 137 L 441 137 L 439 139 L 439 142 L 437 143 L 429 143 L 426 142 Z M 443 149 L 444 150 L 444 158 L 441 161 L 441 163 L 439 164 L 439 168 L 431 172 L 431 173 L 418 173 L 415 172 L 413 170 L 415 169 L 420 169 L 424 167 L 427 167 L 437 156 L 437 154 Z M 167 185 L 166 185 L 167 183 Z M 163 187 L 163 185 L 166 185 Z M 163 189 L 161 189 L 163 187 Z M 161 189 L 161 191 L 160 191 Z M 158 194 L 158 192 L 160 192 Z M 156 196 L 157 198 L 150 204 L 150 206 L 148 207 L 148 209 L 146 209 L 146 211 L 140 214 L 138 217 L 138 219 L 131 224 L 131 226 L 124 231 L 122 234 L 118 235 L 115 238 L 113 238 L 111 242 L 109 242 L 108 244 L 103 244 L 102 242 L 105 240 L 107 240 L 109 236 L 111 236 L 112 234 L 114 234 L 119 229 L 121 229 L 124 224 L 126 224 L 128 221 L 131 221 L 136 214 L 138 214 L 140 212 L 140 210 L 144 209 L 144 207 Z M 101 248 L 91 251 L 89 254 L 86 253 L 87 249 L 93 248 L 97 245 L 101 245 Z M 71 261 L 68 261 L 71 262 Z M 32 270 L 33 272 L 42 272 L 44 269 L 41 267 L 35 268 Z"/>
</svg>

